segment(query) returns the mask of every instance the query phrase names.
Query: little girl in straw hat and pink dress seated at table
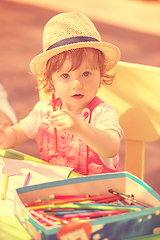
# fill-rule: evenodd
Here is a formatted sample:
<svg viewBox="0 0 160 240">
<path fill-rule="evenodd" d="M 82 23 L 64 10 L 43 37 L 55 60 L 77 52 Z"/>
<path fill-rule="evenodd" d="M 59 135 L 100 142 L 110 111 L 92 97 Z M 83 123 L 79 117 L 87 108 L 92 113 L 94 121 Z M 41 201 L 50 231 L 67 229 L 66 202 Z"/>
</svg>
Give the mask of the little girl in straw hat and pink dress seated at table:
<svg viewBox="0 0 160 240">
<path fill-rule="evenodd" d="M 123 131 L 109 104 L 96 96 L 107 74 L 119 61 L 119 49 L 101 41 L 93 23 L 82 13 L 54 16 L 43 33 L 43 53 L 30 69 L 47 93 L 58 98 L 39 101 L 20 123 L 0 127 L 0 148 L 36 138 L 41 159 L 73 168 L 83 175 L 121 171 L 118 152 Z M 54 147 L 54 129 L 57 145 Z"/>
</svg>

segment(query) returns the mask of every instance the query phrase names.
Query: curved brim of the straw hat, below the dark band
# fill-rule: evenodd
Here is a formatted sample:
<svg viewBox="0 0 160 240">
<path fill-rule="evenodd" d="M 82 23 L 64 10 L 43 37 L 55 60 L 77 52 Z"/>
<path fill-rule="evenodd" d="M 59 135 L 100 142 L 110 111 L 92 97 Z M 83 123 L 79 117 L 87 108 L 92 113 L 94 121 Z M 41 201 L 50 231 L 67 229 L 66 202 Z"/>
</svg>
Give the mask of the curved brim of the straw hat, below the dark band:
<svg viewBox="0 0 160 240">
<path fill-rule="evenodd" d="M 37 55 L 30 63 L 30 70 L 38 76 L 43 75 L 46 70 L 46 63 L 51 57 L 67 50 L 84 47 L 95 48 L 102 51 L 105 56 L 108 71 L 116 66 L 120 59 L 120 50 L 113 44 L 106 42 L 79 42 L 60 46 Z"/>
</svg>

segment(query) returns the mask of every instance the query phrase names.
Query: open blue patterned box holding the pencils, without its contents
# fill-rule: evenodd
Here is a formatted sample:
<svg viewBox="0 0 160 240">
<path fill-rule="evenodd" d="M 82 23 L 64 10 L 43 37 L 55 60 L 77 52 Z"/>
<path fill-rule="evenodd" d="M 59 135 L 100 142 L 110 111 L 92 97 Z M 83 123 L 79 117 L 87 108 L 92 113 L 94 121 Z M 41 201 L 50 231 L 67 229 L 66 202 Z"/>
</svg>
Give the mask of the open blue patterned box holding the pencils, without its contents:
<svg viewBox="0 0 160 240">
<path fill-rule="evenodd" d="M 133 194 L 135 199 L 152 207 L 92 221 L 44 226 L 24 205 L 52 194 L 108 194 L 109 189 Z M 158 236 L 160 239 L 160 197 L 144 181 L 128 172 L 70 178 L 16 189 L 15 215 L 31 237 L 38 240 L 133 240 Z"/>
</svg>

